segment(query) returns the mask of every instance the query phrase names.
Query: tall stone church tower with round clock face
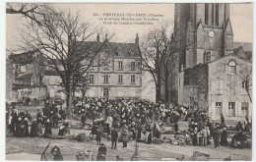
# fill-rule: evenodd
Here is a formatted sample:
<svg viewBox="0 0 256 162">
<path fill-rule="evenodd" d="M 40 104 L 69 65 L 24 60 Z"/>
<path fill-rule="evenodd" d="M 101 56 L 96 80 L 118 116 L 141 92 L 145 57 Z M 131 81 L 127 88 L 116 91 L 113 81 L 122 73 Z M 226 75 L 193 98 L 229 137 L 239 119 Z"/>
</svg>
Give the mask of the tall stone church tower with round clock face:
<svg viewBox="0 0 256 162">
<path fill-rule="evenodd" d="M 174 32 L 179 67 L 192 68 L 232 53 L 229 4 L 176 4 Z"/>
</svg>

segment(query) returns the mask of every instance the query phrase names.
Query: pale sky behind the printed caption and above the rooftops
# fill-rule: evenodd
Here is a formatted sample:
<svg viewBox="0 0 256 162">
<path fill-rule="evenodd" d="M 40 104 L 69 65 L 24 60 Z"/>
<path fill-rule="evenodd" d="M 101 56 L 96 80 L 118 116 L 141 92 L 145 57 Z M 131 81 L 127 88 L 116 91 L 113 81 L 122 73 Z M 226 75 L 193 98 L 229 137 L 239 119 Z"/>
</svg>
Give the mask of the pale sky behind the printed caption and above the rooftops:
<svg viewBox="0 0 256 162">
<path fill-rule="evenodd" d="M 55 4 L 57 8 L 71 11 L 80 11 L 83 21 L 102 27 L 108 32 L 114 32 L 116 42 L 134 42 L 136 33 L 142 37 L 149 30 L 153 29 L 161 22 L 174 22 L 174 4 Z M 234 42 L 251 42 L 253 39 L 253 10 L 251 4 L 230 4 L 230 21 L 233 29 Z M 94 16 L 94 15 L 99 16 Z M 154 25 L 104 25 L 100 18 L 116 18 L 103 16 L 103 14 L 150 14 L 160 15 L 154 17 L 159 21 L 151 21 Z M 137 18 L 137 17 L 136 17 Z M 138 18 L 141 18 L 138 16 Z M 150 18 L 150 17 L 147 17 Z M 151 17 L 152 18 L 152 17 Z M 14 49 L 19 45 L 19 35 L 24 29 L 25 18 L 21 15 L 6 15 L 6 46 L 7 49 Z M 145 78 L 145 77 L 144 77 Z M 146 77 L 147 78 L 147 77 Z M 147 80 L 144 80 L 144 84 Z M 152 87 L 152 86 L 150 86 Z M 148 88 L 144 92 L 147 99 L 155 97 L 154 88 Z M 152 91 L 152 92 L 150 92 Z"/>
</svg>

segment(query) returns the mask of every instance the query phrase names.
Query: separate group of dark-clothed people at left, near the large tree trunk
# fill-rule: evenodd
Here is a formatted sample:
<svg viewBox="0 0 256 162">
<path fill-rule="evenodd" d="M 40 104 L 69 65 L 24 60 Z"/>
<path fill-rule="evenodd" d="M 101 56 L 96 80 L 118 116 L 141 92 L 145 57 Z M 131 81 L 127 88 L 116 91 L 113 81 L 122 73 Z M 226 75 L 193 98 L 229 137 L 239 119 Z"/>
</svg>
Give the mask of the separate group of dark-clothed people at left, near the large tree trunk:
<svg viewBox="0 0 256 162">
<path fill-rule="evenodd" d="M 36 117 L 32 119 L 31 113 L 28 110 L 19 111 L 15 105 L 6 111 L 6 126 L 11 131 L 12 135 L 20 137 L 34 137 L 44 136 L 50 137 L 52 135 L 52 128 L 58 128 L 58 135 L 70 135 L 69 123 L 65 120 L 66 113 L 62 107 L 57 108 L 56 105 L 45 102 L 42 110 L 40 108 L 36 111 Z M 61 126 L 59 121 L 62 120 Z M 29 126 L 31 124 L 31 129 Z M 44 133 L 42 133 L 44 128 Z"/>
</svg>

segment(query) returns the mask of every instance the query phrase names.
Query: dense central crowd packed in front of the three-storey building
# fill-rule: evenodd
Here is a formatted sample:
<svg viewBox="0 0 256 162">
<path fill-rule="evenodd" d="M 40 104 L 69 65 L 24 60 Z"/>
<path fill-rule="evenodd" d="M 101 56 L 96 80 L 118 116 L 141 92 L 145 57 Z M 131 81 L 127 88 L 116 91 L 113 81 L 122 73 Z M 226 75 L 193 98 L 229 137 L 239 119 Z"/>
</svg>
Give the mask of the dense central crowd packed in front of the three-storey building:
<svg viewBox="0 0 256 162">
<path fill-rule="evenodd" d="M 93 121 L 92 135 L 96 135 L 97 144 L 100 144 L 101 135 L 106 134 L 111 135 L 113 142 L 119 137 L 123 147 L 127 146 L 129 139 L 152 143 L 153 138 L 160 138 L 160 126 L 176 124 L 186 111 L 183 107 L 166 107 L 163 103 L 138 98 L 87 98 L 85 101 L 74 101 L 74 114 L 81 118 L 82 128 L 88 118 Z M 115 131 L 120 135 L 112 134 Z"/>
</svg>

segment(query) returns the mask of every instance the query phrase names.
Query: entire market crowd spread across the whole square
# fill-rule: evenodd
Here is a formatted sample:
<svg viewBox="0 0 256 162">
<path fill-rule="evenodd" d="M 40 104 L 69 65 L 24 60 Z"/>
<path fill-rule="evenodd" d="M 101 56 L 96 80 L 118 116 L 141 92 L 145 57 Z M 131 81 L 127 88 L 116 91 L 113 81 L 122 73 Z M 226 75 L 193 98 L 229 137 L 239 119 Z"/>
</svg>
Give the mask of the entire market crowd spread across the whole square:
<svg viewBox="0 0 256 162">
<path fill-rule="evenodd" d="M 161 102 L 154 103 L 138 98 L 86 98 L 74 99 L 73 114 L 81 121 L 81 129 L 89 128 L 91 135 L 95 136 L 96 144 L 104 147 L 101 137 L 111 139 L 111 149 L 116 149 L 117 141 L 122 141 L 123 147 L 127 147 L 129 140 L 152 143 L 154 139 L 160 139 L 162 126 L 170 124 L 174 137 L 179 135 L 178 122 L 180 119 L 188 121 L 188 130 L 184 132 L 186 139 L 192 141 L 192 145 L 211 144 L 214 140 L 215 147 L 220 144 L 227 146 L 227 127 L 224 116 L 221 123 L 212 123 L 208 114 L 196 110 L 188 113 L 188 108 L 174 105 L 165 105 Z M 26 111 L 18 111 L 12 106 L 6 111 L 6 124 L 11 133 L 16 136 L 44 136 L 52 135 L 52 128 L 59 130 L 58 135 L 70 135 L 70 124 L 66 121 L 66 112 L 54 102 L 46 101 L 42 109 L 36 110 L 36 117 Z M 59 124 L 59 121 L 62 121 Z M 31 123 L 31 129 L 29 129 Z M 44 133 L 42 133 L 44 128 Z M 248 118 L 244 126 L 238 122 L 235 127 L 237 134 L 232 142 L 241 140 L 243 132 L 251 132 L 251 124 Z M 98 158 L 102 158 L 103 148 Z M 100 152 L 99 151 L 99 152 Z M 58 151 L 56 151 L 58 152 Z M 103 152 L 103 153 L 102 153 Z M 53 151 L 54 153 L 54 151 Z"/>
</svg>

